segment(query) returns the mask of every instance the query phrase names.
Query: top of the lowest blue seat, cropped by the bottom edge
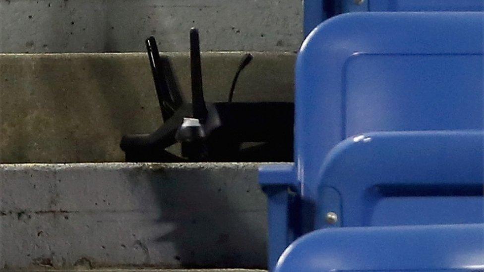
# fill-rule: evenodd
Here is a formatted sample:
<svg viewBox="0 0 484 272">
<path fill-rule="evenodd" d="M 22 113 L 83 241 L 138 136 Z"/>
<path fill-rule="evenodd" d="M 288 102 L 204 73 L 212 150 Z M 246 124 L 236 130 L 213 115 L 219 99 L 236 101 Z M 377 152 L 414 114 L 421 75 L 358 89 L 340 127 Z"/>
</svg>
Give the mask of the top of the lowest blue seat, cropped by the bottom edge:
<svg viewBox="0 0 484 272">
<path fill-rule="evenodd" d="M 275 271 L 483 271 L 483 232 L 483 224 L 316 230 Z"/>
</svg>

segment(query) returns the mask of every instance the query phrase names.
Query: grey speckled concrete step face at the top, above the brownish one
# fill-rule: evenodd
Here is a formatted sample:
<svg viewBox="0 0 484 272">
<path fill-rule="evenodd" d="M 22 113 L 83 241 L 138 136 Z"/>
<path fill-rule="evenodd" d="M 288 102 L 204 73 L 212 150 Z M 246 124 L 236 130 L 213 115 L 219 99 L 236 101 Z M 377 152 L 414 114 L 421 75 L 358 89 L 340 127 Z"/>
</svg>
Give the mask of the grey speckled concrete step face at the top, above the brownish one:
<svg viewBox="0 0 484 272">
<path fill-rule="evenodd" d="M 296 51 L 302 0 L 1 0 L 2 53 L 140 52 L 188 49 L 200 30 L 202 51 Z"/>
</svg>

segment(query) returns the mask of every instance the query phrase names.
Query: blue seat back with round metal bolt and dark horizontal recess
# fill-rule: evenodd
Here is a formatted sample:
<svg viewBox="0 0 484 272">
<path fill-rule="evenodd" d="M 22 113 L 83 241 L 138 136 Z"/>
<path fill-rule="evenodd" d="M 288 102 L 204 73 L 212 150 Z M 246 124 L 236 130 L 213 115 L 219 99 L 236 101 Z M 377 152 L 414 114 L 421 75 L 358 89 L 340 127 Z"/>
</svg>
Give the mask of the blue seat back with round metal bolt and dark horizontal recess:
<svg viewBox="0 0 484 272">
<path fill-rule="evenodd" d="M 484 133 L 350 138 L 326 157 L 317 191 L 315 228 L 483 223 Z"/>
</svg>

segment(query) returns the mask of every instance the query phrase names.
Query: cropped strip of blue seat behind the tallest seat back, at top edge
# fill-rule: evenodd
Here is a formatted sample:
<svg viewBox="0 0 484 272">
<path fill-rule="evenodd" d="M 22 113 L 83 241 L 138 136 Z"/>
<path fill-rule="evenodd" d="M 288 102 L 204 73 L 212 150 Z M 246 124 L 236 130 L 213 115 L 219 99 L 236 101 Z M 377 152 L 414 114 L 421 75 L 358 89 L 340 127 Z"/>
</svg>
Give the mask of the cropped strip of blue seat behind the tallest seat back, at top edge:
<svg viewBox="0 0 484 272">
<path fill-rule="evenodd" d="M 347 12 L 483 10 L 482 0 L 304 0 L 304 36 L 322 21 Z"/>
</svg>

